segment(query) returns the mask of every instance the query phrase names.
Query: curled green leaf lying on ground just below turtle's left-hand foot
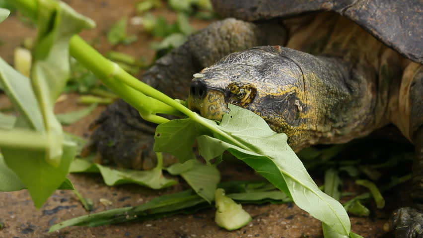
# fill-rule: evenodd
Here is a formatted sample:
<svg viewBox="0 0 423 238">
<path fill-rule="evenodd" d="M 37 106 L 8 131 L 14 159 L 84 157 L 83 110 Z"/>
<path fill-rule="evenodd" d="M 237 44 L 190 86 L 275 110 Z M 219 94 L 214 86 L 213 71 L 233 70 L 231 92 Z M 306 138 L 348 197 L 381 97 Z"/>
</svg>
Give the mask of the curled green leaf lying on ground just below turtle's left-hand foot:
<svg viewBox="0 0 423 238">
<path fill-rule="evenodd" d="M 112 169 L 85 160 L 75 159 L 70 165 L 70 173 L 101 173 L 104 182 L 109 186 L 125 183 L 136 183 L 153 189 L 160 189 L 171 186 L 177 182 L 173 179 L 163 177 L 161 168 L 152 170 L 124 170 Z"/>
</svg>

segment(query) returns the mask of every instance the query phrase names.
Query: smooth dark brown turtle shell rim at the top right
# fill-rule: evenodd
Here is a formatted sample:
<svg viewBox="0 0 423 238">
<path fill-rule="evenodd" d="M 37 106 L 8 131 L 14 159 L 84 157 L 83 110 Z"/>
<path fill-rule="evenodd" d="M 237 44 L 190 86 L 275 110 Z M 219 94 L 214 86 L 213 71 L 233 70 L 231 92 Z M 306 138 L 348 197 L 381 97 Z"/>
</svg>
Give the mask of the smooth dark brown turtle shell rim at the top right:
<svg viewBox="0 0 423 238">
<path fill-rule="evenodd" d="M 263 21 L 335 11 L 410 60 L 423 62 L 423 0 L 211 0 L 224 17 Z"/>
</svg>

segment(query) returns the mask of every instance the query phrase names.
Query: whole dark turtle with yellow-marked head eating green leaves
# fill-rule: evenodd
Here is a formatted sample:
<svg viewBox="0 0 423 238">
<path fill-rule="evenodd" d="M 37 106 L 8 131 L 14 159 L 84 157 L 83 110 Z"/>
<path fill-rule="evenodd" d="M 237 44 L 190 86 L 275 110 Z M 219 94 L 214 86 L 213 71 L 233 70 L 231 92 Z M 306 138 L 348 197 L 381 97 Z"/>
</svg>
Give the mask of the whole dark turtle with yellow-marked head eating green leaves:
<svg viewBox="0 0 423 238">
<path fill-rule="evenodd" d="M 398 238 L 423 237 L 422 0 L 211 0 L 223 20 L 156 60 L 141 80 L 220 120 L 228 104 L 261 116 L 299 151 L 394 124 L 414 144 L 412 203 Z M 193 76 L 194 75 L 194 76 Z M 155 125 L 123 101 L 95 121 L 90 148 L 154 166 Z M 173 163 L 169 157 L 166 161 Z"/>
</svg>

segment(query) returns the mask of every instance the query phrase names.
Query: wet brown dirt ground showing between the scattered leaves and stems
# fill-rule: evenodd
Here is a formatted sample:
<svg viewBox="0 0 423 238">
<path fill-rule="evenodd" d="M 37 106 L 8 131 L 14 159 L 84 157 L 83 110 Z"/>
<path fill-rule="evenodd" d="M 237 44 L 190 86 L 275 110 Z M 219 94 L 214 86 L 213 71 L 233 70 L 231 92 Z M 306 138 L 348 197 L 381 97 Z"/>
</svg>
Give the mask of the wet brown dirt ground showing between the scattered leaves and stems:
<svg viewBox="0 0 423 238">
<path fill-rule="evenodd" d="M 151 41 L 159 39 L 143 32 L 141 26 L 130 25 L 130 34 L 136 34 L 138 41 L 125 46 L 111 47 L 105 34 L 121 16 L 135 16 L 135 4 L 139 0 L 67 0 L 80 13 L 95 20 L 97 28 L 82 32 L 82 37 L 91 42 L 100 52 L 106 53 L 113 49 L 136 57 L 145 56 L 151 59 L 154 51 L 148 48 Z M 175 19 L 174 12 L 165 7 L 153 11 L 167 19 Z M 193 25 L 201 29 L 209 24 L 207 21 L 193 20 Z M 35 29 L 23 24 L 16 15 L 10 16 L 0 24 L 0 55 L 12 62 L 13 49 L 21 44 L 24 37 L 34 36 Z M 69 112 L 84 106 L 76 104 L 77 95 L 69 94 L 66 100 L 56 106 L 57 113 Z M 4 96 L 0 97 L 1 108 L 8 107 Z M 65 130 L 86 136 L 88 125 L 104 106 L 98 107 L 91 115 L 78 122 L 65 126 Z M 24 166 L 24 165 L 23 165 Z M 222 164 L 220 169 L 223 179 L 253 179 L 258 178 L 249 168 L 241 164 Z M 108 187 L 99 175 L 70 175 L 79 192 L 94 201 L 95 211 L 124 206 L 135 206 L 151 200 L 162 194 L 177 192 L 187 188 L 179 178 L 180 183 L 163 190 L 151 190 L 136 185 L 121 185 Z M 178 179 L 178 178 L 176 178 Z M 322 178 L 316 178 L 322 179 Z M 344 187 L 358 190 L 357 186 L 347 181 Z M 390 198 L 392 197 L 392 198 Z M 112 205 L 105 206 L 100 198 L 106 198 Z M 387 208 L 374 212 L 369 218 L 351 217 L 352 231 L 363 237 L 391 237 L 383 231 L 392 207 L 395 206 L 395 196 L 388 196 Z M 214 210 L 204 210 L 195 215 L 176 215 L 151 221 L 133 222 L 128 224 L 110 225 L 104 227 L 70 227 L 54 233 L 47 233 L 50 226 L 76 216 L 86 215 L 71 191 L 57 191 L 39 210 L 35 209 L 27 191 L 0 193 L 0 222 L 4 228 L 0 230 L 0 238 L 300 238 L 323 237 L 321 224 L 308 213 L 289 203 L 282 205 L 244 205 L 253 216 L 253 221 L 237 231 L 227 232 L 219 229 L 213 222 Z"/>
</svg>

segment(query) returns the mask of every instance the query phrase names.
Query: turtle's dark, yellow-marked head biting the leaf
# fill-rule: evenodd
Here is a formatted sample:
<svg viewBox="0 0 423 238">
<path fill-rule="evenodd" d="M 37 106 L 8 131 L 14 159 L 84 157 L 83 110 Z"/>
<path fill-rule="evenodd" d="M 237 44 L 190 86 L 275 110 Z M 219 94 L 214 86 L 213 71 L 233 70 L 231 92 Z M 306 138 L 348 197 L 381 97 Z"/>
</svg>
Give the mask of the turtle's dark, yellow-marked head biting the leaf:
<svg viewBox="0 0 423 238">
<path fill-rule="evenodd" d="M 194 75 L 189 108 L 221 120 L 228 104 L 248 109 L 290 138 L 307 111 L 300 67 L 280 47 L 257 47 L 228 55 Z"/>
</svg>

